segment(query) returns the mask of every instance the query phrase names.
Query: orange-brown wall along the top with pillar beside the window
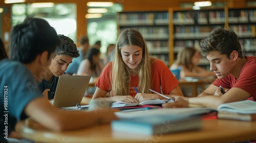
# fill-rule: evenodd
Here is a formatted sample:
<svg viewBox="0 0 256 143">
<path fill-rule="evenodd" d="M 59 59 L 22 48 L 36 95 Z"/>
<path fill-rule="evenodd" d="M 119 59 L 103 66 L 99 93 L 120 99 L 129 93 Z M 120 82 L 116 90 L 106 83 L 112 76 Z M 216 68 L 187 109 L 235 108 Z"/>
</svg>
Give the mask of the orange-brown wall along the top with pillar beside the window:
<svg viewBox="0 0 256 143">
<path fill-rule="evenodd" d="M 87 34 L 87 20 L 84 17 L 87 13 L 87 2 L 114 2 L 123 5 L 124 11 L 157 11 L 157 10 L 168 10 L 168 8 L 178 8 L 181 3 L 193 3 L 197 0 L 180 0 L 180 1 L 170 1 L 170 0 L 54 0 L 54 3 L 76 3 L 77 4 L 77 38 Z M 198 0 L 199 1 L 199 0 Z M 45 3 L 53 2 L 51 0 L 27 0 L 26 3 Z M 245 7 L 246 0 L 212 0 L 211 2 L 226 2 L 228 7 L 238 8 Z M 1 14 L 2 17 L 2 35 L 5 32 L 11 31 L 11 4 L 4 4 L 4 0 L 0 1 L 0 6 L 7 7 L 9 11 L 7 13 Z M 8 46 L 8 42 L 5 42 Z"/>
</svg>

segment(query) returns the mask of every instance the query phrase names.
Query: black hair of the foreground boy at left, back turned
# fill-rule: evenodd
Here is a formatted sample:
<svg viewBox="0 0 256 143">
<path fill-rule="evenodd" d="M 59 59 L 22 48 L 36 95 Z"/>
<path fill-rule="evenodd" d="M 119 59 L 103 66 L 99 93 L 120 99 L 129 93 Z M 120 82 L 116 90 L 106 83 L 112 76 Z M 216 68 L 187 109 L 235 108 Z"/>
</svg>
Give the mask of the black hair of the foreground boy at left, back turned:
<svg viewBox="0 0 256 143">
<path fill-rule="evenodd" d="M 13 27 L 10 38 L 10 59 L 31 63 L 43 52 L 55 52 L 60 40 L 56 31 L 45 19 L 26 18 L 23 23 Z"/>
</svg>

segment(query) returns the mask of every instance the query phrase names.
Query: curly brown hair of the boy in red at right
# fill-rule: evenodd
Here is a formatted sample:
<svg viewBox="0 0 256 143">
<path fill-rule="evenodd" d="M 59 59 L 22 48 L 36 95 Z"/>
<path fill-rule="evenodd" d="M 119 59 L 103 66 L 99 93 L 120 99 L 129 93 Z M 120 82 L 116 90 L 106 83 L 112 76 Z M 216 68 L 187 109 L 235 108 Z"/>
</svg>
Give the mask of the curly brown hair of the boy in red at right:
<svg viewBox="0 0 256 143">
<path fill-rule="evenodd" d="M 201 40 L 200 53 L 202 56 L 207 56 L 210 52 L 215 51 L 225 54 L 227 58 L 233 51 L 237 51 L 239 58 L 243 58 L 238 35 L 230 29 L 218 28 L 212 30 L 206 38 Z"/>
</svg>

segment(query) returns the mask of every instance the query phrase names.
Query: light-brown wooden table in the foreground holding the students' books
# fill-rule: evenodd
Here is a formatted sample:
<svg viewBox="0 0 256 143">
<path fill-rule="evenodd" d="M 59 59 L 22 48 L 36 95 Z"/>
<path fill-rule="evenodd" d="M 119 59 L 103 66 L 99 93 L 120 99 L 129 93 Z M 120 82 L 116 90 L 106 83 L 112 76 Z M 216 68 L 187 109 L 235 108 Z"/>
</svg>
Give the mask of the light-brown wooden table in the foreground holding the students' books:
<svg viewBox="0 0 256 143">
<path fill-rule="evenodd" d="M 140 136 L 117 133 L 110 124 L 79 130 L 53 132 L 39 127 L 29 127 L 25 121 L 16 125 L 19 135 L 36 142 L 231 142 L 256 139 L 256 122 L 232 120 L 203 120 L 201 130 Z"/>
</svg>

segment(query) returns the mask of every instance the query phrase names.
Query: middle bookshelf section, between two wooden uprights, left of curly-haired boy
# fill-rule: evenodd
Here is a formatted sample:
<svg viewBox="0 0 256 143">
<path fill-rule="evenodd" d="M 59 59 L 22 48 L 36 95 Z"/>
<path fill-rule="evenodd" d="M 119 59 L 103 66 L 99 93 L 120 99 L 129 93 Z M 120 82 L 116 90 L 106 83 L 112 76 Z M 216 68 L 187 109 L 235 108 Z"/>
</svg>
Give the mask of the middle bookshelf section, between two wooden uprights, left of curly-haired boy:
<svg viewBox="0 0 256 143">
<path fill-rule="evenodd" d="M 170 65 L 174 63 L 177 54 L 183 47 L 195 47 L 199 50 L 200 41 L 214 29 L 225 27 L 226 10 L 223 9 L 169 9 L 170 33 L 169 45 Z M 199 63 L 206 69 L 209 69 L 209 62 L 206 57 L 202 57 Z"/>
</svg>

